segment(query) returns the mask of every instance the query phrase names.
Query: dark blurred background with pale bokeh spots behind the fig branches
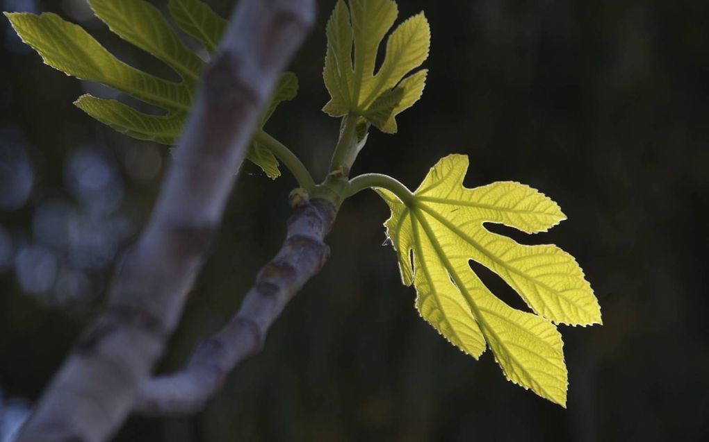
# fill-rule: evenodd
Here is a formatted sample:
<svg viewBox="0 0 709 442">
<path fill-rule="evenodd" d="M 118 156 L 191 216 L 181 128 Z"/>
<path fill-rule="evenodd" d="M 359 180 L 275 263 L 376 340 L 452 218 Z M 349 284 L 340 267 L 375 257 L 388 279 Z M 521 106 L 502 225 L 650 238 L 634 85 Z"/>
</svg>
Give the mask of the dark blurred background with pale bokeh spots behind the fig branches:
<svg viewBox="0 0 709 442">
<path fill-rule="evenodd" d="M 233 1 L 209 3 L 227 15 Z M 535 237 L 510 234 L 571 252 L 601 302 L 603 327 L 560 327 L 568 409 L 509 383 L 491 354 L 474 361 L 420 319 L 391 247 L 382 247 L 386 206 L 366 192 L 342 207 L 323 271 L 204 412 L 132 418 L 116 440 L 708 440 L 709 3 L 399 3 L 400 20 L 424 9 L 431 23 L 428 85 L 398 118 L 399 134 L 371 134 L 354 173 L 389 173 L 413 188 L 442 156 L 467 153 L 468 186 L 517 180 L 559 202 L 568 221 Z M 320 112 L 333 5 L 320 1 L 291 66 L 298 98 L 267 126 L 317 178 L 338 128 Z M 111 35 L 83 0 L 0 6 L 60 13 L 126 62 L 174 76 Z M 3 440 L 100 311 L 113 262 L 145 223 L 169 155 L 72 106 L 84 92 L 112 92 L 43 65 L 0 22 Z M 160 370 L 182 364 L 238 308 L 279 247 L 294 187 L 283 173 L 272 181 L 244 166 Z"/>
</svg>

